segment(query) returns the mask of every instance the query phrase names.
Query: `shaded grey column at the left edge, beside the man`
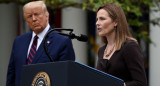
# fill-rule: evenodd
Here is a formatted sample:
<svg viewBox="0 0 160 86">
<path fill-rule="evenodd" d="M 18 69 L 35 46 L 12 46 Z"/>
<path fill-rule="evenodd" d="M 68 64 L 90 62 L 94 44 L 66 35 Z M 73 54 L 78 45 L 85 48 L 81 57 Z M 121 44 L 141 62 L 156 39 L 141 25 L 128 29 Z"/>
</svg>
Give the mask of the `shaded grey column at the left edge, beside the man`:
<svg viewBox="0 0 160 86">
<path fill-rule="evenodd" d="M 6 74 L 13 39 L 17 33 L 17 7 L 0 4 L 0 86 L 6 86 Z"/>
</svg>

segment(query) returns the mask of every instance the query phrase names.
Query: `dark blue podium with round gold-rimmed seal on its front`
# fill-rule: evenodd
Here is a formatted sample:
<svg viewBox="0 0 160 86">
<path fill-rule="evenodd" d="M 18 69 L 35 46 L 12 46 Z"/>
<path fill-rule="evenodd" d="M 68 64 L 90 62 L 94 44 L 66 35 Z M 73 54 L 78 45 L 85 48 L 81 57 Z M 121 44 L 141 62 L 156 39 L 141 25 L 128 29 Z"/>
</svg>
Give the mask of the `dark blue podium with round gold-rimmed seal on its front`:
<svg viewBox="0 0 160 86">
<path fill-rule="evenodd" d="M 123 83 L 122 79 L 87 65 L 61 61 L 23 66 L 20 86 L 124 86 Z"/>
</svg>

